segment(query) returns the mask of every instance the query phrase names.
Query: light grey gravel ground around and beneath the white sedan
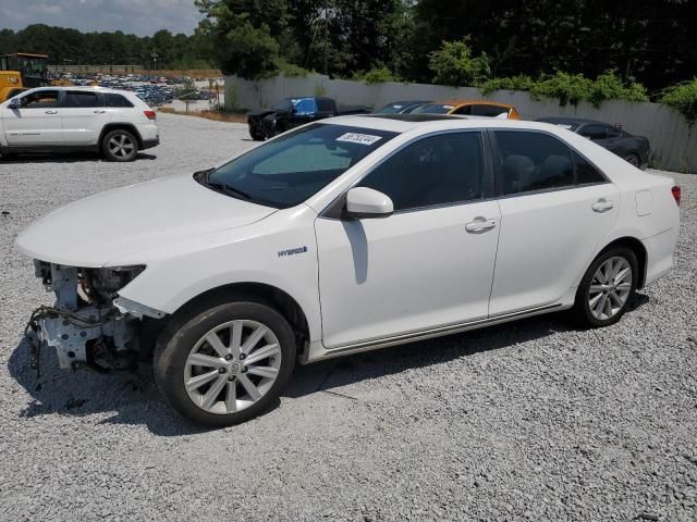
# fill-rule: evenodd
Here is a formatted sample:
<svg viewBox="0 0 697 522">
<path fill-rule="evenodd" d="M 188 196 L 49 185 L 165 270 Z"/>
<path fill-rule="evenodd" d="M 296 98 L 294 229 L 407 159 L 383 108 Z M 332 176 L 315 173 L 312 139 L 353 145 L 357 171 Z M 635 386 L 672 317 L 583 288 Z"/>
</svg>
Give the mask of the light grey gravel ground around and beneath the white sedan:
<svg viewBox="0 0 697 522">
<path fill-rule="evenodd" d="M 674 174 L 674 270 L 606 330 L 550 315 L 303 366 L 269 413 L 209 432 L 148 372 L 73 375 L 45 353 L 36 381 L 22 331 L 50 297 L 19 231 L 252 146 L 244 125 L 159 122 L 132 164 L 0 161 L 0 519 L 697 520 L 695 175 Z"/>
</svg>

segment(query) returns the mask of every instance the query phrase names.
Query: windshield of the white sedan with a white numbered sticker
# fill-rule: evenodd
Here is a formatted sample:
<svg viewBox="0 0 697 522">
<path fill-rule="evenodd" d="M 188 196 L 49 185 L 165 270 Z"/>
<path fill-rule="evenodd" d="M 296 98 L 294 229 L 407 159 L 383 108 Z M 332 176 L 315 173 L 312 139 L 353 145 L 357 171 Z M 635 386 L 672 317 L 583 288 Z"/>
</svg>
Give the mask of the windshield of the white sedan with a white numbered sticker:
<svg viewBox="0 0 697 522">
<path fill-rule="evenodd" d="M 284 209 L 316 194 L 396 133 L 313 124 L 279 136 L 196 181 L 230 197 Z"/>
</svg>

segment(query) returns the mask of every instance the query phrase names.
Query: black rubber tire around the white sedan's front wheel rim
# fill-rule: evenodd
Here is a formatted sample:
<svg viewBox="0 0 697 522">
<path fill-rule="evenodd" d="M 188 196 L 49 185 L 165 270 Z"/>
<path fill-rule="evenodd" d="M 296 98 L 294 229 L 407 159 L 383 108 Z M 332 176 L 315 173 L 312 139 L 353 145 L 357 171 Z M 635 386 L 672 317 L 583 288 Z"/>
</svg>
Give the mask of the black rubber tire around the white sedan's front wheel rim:
<svg viewBox="0 0 697 522">
<path fill-rule="evenodd" d="M 281 355 L 278 375 L 266 394 L 250 406 L 234 413 L 206 411 L 194 403 L 184 385 L 186 360 L 207 333 L 224 323 L 240 320 L 258 322 L 276 336 Z M 293 331 L 283 315 L 273 308 L 250 300 L 224 303 L 213 300 L 175 315 L 160 334 L 154 353 L 155 381 L 162 396 L 185 419 L 205 426 L 229 426 L 257 417 L 278 399 L 293 373 L 295 353 Z M 244 368 L 241 371 L 246 371 Z M 232 372 L 230 376 L 232 377 Z M 244 388 L 242 391 L 244 393 Z M 217 401 L 217 405 L 220 406 L 221 401 Z"/>
</svg>

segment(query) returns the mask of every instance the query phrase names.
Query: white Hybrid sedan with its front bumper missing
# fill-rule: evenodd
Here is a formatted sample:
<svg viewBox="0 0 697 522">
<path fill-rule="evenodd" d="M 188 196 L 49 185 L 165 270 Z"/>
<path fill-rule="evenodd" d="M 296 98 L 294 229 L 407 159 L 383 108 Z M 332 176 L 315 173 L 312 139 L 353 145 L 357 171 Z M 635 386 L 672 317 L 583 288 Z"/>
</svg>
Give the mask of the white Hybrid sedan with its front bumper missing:
<svg viewBox="0 0 697 522">
<path fill-rule="evenodd" d="M 62 368 L 154 352 L 175 410 L 232 424 L 298 360 L 565 309 L 611 325 L 671 269 L 678 202 L 672 179 L 549 124 L 323 120 L 30 225 L 17 247 L 57 302 L 28 337 Z"/>
</svg>

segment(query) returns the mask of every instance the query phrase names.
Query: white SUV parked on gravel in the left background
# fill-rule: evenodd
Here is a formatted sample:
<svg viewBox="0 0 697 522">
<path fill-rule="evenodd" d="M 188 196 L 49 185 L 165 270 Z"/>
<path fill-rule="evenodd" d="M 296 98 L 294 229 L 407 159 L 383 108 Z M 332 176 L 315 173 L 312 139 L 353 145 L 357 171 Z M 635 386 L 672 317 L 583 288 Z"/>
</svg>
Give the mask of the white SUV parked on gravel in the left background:
<svg viewBox="0 0 697 522">
<path fill-rule="evenodd" d="M 0 104 L 0 154 L 93 150 L 133 161 L 159 145 L 156 117 L 125 90 L 39 87 Z"/>
</svg>

